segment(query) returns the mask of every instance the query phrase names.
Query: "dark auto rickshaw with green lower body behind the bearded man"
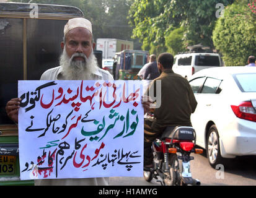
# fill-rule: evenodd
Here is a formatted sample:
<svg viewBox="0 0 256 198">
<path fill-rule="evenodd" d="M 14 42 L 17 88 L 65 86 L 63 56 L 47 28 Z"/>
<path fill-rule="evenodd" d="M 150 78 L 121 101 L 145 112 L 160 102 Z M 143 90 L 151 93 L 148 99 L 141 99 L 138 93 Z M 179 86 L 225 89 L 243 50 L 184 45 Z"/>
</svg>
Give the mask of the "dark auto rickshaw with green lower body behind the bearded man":
<svg viewBox="0 0 256 198">
<path fill-rule="evenodd" d="M 5 106 L 17 98 L 18 80 L 39 80 L 58 66 L 64 25 L 84 14 L 76 7 L 14 2 L 0 2 L 0 10 L 0 185 L 33 185 L 20 181 L 18 128 Z"/>
</svg>

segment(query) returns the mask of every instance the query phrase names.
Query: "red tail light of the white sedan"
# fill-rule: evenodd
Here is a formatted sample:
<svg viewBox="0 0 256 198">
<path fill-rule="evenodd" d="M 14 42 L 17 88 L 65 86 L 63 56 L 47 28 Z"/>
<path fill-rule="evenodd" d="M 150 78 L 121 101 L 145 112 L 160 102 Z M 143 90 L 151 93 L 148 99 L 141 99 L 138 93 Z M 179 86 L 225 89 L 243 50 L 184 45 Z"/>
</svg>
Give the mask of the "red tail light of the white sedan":
<svg viewBox="0 0 256 198">
<path fill-rule="evenodd" d="M 231 105 L 231 108 L 237 118 L 256 122 L 256 111 L 250 101 L 244 101 L 240 105 Z"/>
</svg>

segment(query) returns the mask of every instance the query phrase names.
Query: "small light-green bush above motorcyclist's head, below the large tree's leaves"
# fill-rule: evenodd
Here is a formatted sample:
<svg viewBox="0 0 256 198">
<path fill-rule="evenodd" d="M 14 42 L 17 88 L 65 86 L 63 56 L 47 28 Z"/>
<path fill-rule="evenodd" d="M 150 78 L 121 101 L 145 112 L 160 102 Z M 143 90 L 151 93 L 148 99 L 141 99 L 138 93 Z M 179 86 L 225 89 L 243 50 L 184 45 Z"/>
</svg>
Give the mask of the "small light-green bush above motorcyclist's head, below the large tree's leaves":
<svg viewBox="0 0 256 198">
<path fill-rule="evenodd" d="M 185 45 L 183 44 L 185 38 L 185 28 L 180 27 L 166 37 L 166 48 L 167 51 L 173 55 L 185 51 Z"/>
</svg>

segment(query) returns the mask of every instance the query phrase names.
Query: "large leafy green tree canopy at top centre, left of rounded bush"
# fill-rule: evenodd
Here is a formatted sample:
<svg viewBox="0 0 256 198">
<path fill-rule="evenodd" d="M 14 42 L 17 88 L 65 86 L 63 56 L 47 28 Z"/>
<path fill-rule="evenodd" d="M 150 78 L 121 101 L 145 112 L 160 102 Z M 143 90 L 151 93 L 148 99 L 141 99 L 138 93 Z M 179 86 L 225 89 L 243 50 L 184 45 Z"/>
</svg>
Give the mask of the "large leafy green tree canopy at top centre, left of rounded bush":
<svg viewBox="0 0 256 198">
<path fill-rule="evenodd" d="M 184 45 L 213 47 L 211 39 L 216 21 L 216 4 L 224 6 L 234 0 L 134 0 L 129 11 L 133 38 L 143 45 L 164 46 L 167 35 L 180 26 L 185 27 Z"/>
</svg>

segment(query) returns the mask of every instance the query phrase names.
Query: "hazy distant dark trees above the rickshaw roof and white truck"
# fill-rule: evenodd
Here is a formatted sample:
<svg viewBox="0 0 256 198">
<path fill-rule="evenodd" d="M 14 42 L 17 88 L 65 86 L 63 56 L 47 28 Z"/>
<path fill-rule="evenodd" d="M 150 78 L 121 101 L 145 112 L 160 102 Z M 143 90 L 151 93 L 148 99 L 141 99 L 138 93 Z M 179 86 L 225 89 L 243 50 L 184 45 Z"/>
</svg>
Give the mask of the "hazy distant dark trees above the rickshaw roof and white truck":
<svg viewBox="0 0 256 198">
<path fill-rule="evenodd" d="M 29 2 L 30 0 L 9 1 Z M 32 3 L 78 7 L 84 13 L 84 17 L 92 22 L 94 40 L 97 38 L 132 40 L 132 28 L 127 19 L 131 0 L 32 0 Z M 137 45 L 137 48 L 140 46 Z"/>
</svg>

